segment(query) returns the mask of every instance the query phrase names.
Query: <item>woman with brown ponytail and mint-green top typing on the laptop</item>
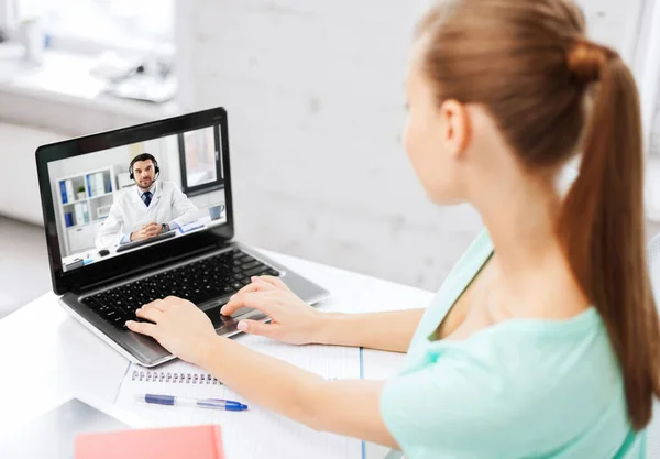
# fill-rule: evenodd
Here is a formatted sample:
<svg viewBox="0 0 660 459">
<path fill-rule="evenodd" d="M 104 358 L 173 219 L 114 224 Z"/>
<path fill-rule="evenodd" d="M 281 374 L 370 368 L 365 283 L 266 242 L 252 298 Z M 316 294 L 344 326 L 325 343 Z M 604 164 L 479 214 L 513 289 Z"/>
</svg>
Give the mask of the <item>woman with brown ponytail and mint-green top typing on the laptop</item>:
<svg viewBox="0 0 660 459">
<path fill-rule="evenodd" d="M 255 278 L 226 306 L 290 343 L 407 351 L 396 376 L 323 381 L 219 338 L 189 302 L 131 323 L 245 398 L 411 459 L 644 458 L 660 394 L 645 260 L 640 108 L 568 0 L 448 0 L 420 22 L 406 150 L 429 198 L 486 230 L 421 310 L 320 313 Z M 566 193 L 558 179 L 580 157 Z"/>
</svg>

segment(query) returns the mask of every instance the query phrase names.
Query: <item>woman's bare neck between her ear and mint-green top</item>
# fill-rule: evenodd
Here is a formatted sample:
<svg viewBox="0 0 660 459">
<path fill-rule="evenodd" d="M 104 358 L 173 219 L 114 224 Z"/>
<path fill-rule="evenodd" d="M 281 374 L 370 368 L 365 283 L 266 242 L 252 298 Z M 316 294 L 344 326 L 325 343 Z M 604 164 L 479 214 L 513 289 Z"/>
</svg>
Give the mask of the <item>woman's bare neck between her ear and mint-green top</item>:
<svg viewBox="0 0 660 459">
<path fill-rule="evenodd" d="M 495 248 L 494 294 L 506 309 L 503 314 L 564 316 L 583 309 L 587 300 L 556 232 L 560 195 L 551 185 L 532 181 L 494 188 L 475 206 Z"/>
</svg>

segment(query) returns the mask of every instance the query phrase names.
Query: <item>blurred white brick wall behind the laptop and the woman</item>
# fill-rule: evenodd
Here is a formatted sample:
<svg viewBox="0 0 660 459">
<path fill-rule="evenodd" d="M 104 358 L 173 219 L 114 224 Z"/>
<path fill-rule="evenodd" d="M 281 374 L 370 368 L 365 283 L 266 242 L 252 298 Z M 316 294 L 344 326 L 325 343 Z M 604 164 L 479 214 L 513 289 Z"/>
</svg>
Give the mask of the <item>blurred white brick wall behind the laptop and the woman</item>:
<svg viewBox="0 0 660 459">
<path fill-rule="evenodd" d="M 427 203 L 402 145 L 411 28 L 429 3 L 179 2 L 182 101 L 229 110 L 240 238 L 440 284 L 481 222 Z M 606 3 L 588 13 L 594 33 L 623 48 L 635 1 Z"/>
</svg>

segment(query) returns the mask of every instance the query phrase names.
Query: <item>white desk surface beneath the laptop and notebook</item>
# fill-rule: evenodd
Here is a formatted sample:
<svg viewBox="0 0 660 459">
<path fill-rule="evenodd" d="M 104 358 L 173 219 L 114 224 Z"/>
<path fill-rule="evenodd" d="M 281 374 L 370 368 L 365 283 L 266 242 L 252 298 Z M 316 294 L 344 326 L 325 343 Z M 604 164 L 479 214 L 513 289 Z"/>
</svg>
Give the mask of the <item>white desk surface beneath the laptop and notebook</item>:
<svg viewBox="0 0 660 459">
<path fill-rule="evenodd" d="M 323 303 L 324 310 L 419 308 L 426 307 L 432 296 L 417 288 L 265 253 L 328 288 L 332 298 Z M 364 351 L 365 378 L 386 378 L 402 358 Z M 35 299 L 0 320 L 0 438 L 72 395 L 113 403 L 128 364 L 123 357 L 68 317 L 53 293 Z M 370 444 L 366 451 L 370 459 L 383 458 L 387 449 Z"/>
</svg>

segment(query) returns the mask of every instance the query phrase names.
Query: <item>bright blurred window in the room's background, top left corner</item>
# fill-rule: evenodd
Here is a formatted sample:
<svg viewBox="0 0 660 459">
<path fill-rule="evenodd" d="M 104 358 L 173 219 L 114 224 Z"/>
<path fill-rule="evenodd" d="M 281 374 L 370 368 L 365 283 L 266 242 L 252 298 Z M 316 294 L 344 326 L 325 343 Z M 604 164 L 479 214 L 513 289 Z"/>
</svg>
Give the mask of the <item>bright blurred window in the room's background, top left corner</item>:
<svg viewBox="0 0 660 459">
<path fill-rule="evenodd" d="M 92 52 L 173 46 L 175 1 L 15 0 L 18 18 L 42 18 L 54 46 Z"/>
</svg>

